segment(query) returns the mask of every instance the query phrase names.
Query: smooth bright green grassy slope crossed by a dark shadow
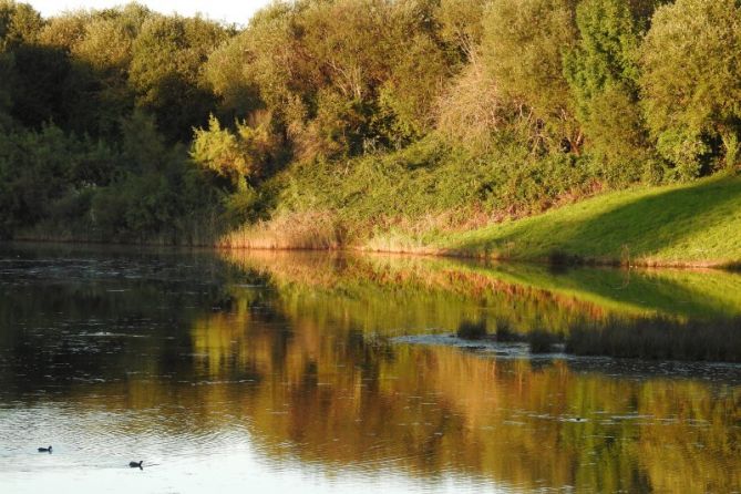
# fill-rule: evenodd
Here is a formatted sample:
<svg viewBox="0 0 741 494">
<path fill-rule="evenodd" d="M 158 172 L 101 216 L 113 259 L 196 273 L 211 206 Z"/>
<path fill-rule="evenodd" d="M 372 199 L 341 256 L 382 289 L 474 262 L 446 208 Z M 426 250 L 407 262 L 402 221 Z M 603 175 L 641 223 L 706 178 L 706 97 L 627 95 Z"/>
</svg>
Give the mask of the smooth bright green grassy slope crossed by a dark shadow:
<svg viewBox="0 0 741 494">
<path fill-rule="evenodd" d="M 546 214 L 453 234 L 457 255 L 719 266 L 741 264 L 741 177 L 605 194 Z"/>
</svg>

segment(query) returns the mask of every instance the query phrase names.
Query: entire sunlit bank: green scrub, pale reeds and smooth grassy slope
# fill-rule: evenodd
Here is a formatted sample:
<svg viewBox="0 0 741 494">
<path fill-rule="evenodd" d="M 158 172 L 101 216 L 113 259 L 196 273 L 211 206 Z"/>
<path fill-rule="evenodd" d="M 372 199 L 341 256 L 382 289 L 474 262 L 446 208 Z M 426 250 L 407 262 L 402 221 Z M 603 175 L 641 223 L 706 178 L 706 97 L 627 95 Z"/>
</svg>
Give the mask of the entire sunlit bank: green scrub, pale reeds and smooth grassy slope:
<svg viewBox="0 0 741 494">
<path fill-rule="evenodd" d="M 475 158 L 428 138 L 395 153 L 296 164 L 269 217 L 225 248 L 343 249 L 605 265 L 741 264 L 741 178 L 609 185 L 597 162 Z"/>
</svg>

